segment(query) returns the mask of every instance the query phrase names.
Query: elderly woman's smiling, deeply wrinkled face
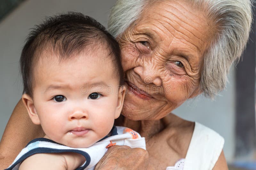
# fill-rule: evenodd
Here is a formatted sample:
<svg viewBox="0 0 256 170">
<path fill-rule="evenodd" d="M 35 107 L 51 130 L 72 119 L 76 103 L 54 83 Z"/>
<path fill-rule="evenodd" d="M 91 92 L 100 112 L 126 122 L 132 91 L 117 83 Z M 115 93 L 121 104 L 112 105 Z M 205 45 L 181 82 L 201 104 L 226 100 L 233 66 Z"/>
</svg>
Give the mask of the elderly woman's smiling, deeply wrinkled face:
<svg viewBox="0 0 256 170">
<path fill-rule="evenodd" d="M 122 114 L 160 119 L 200 94 L 204 53 L 213 37 L 204 15 L 184 2 L 149 5 L 119 40 L 128 94 Z"/>
</svg>

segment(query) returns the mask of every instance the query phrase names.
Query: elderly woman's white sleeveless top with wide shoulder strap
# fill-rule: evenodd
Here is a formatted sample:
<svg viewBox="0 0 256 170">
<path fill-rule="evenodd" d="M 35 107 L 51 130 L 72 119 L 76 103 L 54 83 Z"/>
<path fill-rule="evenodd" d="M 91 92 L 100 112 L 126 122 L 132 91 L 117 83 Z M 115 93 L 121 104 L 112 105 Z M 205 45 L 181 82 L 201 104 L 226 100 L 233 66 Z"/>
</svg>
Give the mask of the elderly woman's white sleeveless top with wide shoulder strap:
<svg viewBox="0 0 256 170">
<path fill-rule="evenodd" d="M 212 170 L 219 159 L 224 139 L 212 129 L 195 122 L 194 132 L 185 159 L 166 170 Z"/>
</svg>

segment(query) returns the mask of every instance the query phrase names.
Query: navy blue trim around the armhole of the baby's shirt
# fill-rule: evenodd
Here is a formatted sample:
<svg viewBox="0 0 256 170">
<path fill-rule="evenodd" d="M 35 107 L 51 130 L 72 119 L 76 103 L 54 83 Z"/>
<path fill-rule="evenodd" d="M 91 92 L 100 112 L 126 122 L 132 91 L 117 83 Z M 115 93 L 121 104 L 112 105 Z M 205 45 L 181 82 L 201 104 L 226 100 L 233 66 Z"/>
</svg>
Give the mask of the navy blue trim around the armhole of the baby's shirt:
<svg viewBox="0 0 256 170">
<path fill-rule="evenodd" d="M 86 159 L 85 165 L 76 168 L 76 170 L 82 170 L 82 169 L 86 168 L 91 162 L 90 155 L 84 151 L 75 150 L 75 149 L 52 149 L 52 148 L 39 147 L 39 148 L 32 149 L 32 150 L 28 151 L 27 153 L 25 153 L 24 155 L 22 155 L 20 157 L 20 159 L 18 159 L 11 167 L 9 167 L 5 170 L 13 169 L 17 164 L 19 164 L 23 160 L 27 159 L 29 156 L 34 155 L 36 153 L 62 153 L 62 152 L 75 152 L 75 153 L 80 153 L 81 155 L 84 156 L 84 158 Z"/>
</svg>

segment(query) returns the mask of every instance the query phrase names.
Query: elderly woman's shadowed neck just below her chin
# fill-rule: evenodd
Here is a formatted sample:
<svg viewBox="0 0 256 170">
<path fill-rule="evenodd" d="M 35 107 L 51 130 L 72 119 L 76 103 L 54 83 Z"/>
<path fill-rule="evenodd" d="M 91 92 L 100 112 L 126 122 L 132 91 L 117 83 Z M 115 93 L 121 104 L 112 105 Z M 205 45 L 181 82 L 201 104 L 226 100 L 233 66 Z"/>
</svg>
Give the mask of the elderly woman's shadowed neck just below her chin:
<svg viewBox="0 0 256 170">
<path fill-rule="evenodd" d="M 142 137 L 145 137 L 146 141 L 164 129 L 164 123 L 161 119 L 135 121 L 122 115 L 116 119 L 115 125 L 125 126 L 131 128 L 134 131 L 137 131 Z"/>
</svg>

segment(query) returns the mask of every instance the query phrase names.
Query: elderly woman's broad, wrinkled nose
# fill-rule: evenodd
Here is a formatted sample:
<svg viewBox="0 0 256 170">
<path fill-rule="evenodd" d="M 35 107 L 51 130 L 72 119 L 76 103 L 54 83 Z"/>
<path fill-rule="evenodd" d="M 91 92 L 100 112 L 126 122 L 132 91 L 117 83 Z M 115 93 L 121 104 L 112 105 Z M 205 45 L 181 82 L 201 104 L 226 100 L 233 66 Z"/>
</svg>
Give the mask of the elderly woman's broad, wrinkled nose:
<svg viewBox="0 0 256 170">
<path fill-rule="evenodd" d="M 162 80 L 157 74 L 157 70 L 155 70 L 153 67 L 150 67 L 149 65 L 145 64 L 144 66 L 135 67 L 133 70 L 140 76 L 141 80 L 144 83 L 153 83 L 156 86 L 162 85 Z"/>
</svg>

